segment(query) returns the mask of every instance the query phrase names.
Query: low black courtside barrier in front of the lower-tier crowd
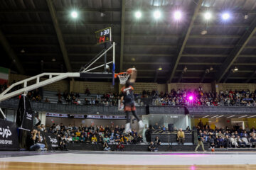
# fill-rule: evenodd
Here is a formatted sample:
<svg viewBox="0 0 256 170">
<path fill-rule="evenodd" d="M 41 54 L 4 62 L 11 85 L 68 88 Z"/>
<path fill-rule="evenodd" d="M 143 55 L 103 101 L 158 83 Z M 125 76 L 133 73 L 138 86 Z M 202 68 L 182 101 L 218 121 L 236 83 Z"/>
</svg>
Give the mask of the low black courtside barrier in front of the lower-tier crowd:
<svg viewBox="0 0 256 170">
<path fill-rule="evenodd" d="M 117 145 L 109 145 L 112 151 L 117 149 Z M 159 152 L 192 152 L 196 149 L 196 145 L 159 145 L 156 146 Z M 204 144 L 208 150 L 208 144 Z M 68 144 L 70 150 L 90 150 L 90 151 L 103 151 L 103 145 L 87 145 L 85 143 Z M 146 152 L 148 151 L 147 145 L 124 145 L 124 151 L 130 152 Z M 199 147 L 198 151 L 202 151 Z"/>
</svg>

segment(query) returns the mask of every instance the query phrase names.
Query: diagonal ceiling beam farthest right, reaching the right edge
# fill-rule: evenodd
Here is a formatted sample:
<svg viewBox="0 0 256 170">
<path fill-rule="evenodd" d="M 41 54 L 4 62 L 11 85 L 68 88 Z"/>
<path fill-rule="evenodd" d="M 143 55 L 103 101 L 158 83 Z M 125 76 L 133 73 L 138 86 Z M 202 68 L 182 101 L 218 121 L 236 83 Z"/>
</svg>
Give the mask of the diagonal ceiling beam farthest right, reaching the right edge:
<svg viewBox="0 0 256 170">
<path fill-rule="evenodd" d="M 249 42 L 250 38 L 256 33 L 256 18 L 250 24 L 250 27 L 245 30 L 245 33 L 242 35 L 240 40 L 238 40 L 230 55 L 225 59 L 223 64 L 221 65 L 218 74 L 216 75 L 216 81 L 219 83 L 221 79 L 223 79 L 224 75 L 228 72 L 228 69 L 233 65 L 235 60 L 238 58 L 242 50 Z"/>
</svg>

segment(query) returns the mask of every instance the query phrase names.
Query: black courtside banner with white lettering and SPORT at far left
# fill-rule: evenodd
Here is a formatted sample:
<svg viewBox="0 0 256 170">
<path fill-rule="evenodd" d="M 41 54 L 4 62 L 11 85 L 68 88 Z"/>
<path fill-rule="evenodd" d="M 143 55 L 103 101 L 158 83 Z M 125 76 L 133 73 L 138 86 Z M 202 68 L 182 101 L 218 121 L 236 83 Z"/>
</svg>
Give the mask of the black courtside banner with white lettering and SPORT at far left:
<svg viewBox="0 0 256 170">
<path fill-rule="evenodd" d="M 0 150 L 18 150 L 16 124 L 0 119 Z"/>
</svg>

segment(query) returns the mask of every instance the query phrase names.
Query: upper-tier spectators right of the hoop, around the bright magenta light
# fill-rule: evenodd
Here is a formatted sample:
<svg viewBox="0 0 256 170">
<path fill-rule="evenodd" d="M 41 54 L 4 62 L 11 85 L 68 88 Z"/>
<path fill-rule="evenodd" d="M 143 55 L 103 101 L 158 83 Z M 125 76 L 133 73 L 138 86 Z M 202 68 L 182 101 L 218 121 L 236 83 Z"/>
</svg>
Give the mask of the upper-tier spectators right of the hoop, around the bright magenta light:
<svg viewBox="0 0 256 170">
<path fill-rule="evenodd" d="M 142 91 L 142 98 L 153 98 L 154 106 L 256 106 L 256 90 L 203 92 L 203 89 L 178 89 L 170 93 Z"/>
</svg>

